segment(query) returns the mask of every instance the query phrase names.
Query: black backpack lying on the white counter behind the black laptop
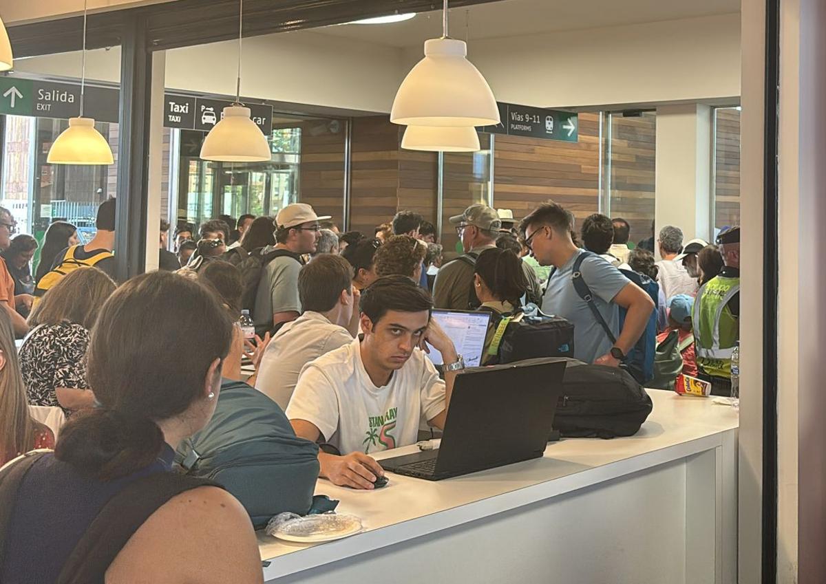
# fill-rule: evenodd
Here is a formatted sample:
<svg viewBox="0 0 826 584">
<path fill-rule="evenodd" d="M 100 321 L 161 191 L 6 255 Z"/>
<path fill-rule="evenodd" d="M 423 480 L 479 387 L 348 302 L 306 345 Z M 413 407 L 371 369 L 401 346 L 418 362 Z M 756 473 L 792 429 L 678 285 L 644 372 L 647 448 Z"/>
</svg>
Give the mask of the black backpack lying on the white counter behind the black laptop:
<svg viewBox="0 0 826 584">
<path fill-rule="evenodd" d="M 653 407 L 628 371 L 570 360 L 553 428 L 566 438 L 633 436 Z"/>
</svg>

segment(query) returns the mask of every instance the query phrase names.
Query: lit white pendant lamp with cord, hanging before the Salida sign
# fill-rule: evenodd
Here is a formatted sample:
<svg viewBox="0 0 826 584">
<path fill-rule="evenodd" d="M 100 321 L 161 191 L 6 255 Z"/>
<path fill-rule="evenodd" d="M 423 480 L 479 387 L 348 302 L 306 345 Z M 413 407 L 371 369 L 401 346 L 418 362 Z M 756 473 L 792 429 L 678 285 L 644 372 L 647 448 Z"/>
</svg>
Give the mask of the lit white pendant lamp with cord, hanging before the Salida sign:
<svg viewBox="0 0 826 584">
<path fill-rule="evenodd" d="M 63 130 L 49 148 L 46 162 L 50 164 L 112 164 L 112 148 L 95 130 L 95 120 L 83 117 L 83 94 L 86 89 L 86 0 L 83 0 L 83 56 L 80 73 L 80 115 L 69 118 L 69 128 Z"/>
</svg>

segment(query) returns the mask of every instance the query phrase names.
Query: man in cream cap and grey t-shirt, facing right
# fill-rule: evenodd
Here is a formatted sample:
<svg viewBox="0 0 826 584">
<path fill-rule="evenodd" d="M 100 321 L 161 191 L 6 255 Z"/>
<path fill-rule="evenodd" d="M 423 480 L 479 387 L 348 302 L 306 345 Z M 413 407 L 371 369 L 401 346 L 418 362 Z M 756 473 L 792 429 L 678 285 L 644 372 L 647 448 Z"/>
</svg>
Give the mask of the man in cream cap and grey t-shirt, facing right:
<svg viewBox="0 0 826 584">
<path fill-rule="evenodd" d="M 263 250 L 263 273 L 255 294 L 253 319 L 256 332 L 275 330 L 301 314 L 298 297 L 298 273 L 304 260 L 301 256 L 316 252 L 320 221 L 330 215 L 318 216 L 306 203 L 287 205 L 275 218 L 274 247 Z"/>
</svg>

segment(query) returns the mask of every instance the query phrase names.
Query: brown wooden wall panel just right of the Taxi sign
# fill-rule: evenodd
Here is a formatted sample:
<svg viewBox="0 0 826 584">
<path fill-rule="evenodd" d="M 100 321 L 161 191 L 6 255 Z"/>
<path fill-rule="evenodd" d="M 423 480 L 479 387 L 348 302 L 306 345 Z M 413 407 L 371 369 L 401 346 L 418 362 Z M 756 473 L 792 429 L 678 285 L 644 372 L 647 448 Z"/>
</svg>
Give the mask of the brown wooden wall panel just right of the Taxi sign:
<svg viewBox="0 0 826 584">
<path fill-rule="evenodd" d="M 332 215 L 344 224 L 344 122 L 308 120 L 301 125 L 301 166 L 298 200 L 317 214 Z"/>
</svg>

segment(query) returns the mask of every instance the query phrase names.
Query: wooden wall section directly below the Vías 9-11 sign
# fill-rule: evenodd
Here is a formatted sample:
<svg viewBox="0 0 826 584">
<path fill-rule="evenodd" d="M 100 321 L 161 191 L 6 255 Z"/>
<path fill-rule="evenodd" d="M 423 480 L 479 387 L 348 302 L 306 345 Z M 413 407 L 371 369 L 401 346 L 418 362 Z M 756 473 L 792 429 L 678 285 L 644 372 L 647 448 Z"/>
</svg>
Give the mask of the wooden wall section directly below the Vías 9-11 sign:
<svg viewBox="0 0 826 584">
<path fill-rule="evenodd" d="M 563 205 L 577 224 L 599 206 L 598 114 L 579 115 L 579 140 L 556 142 L 520 136 L 494 138 L 494 206 L 516 218 L 548 200 Z"/>
</svg>

